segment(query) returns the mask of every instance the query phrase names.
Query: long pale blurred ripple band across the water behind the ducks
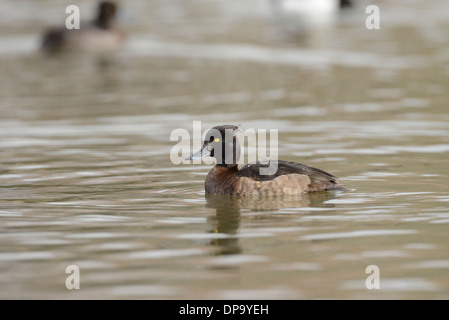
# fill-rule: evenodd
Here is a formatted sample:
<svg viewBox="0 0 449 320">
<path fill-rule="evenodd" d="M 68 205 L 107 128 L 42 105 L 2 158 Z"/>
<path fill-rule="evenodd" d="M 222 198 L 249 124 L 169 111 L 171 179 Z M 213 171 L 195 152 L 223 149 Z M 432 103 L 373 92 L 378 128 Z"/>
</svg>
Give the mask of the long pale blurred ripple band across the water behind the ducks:
<svg viewBox="0 0 449 320">
<path fill-rule="evenodd" d="M 189 44 L 134 38 L 129 44 L 136 55 L 177 58 L 249 61 L 320 68 L 330 65 L 402 69 L 419 68 L 427 63 L 417 57 L 388 57 L 372 52 L 313 49 L 279 49 L 245 44 Z"/>
</svg>

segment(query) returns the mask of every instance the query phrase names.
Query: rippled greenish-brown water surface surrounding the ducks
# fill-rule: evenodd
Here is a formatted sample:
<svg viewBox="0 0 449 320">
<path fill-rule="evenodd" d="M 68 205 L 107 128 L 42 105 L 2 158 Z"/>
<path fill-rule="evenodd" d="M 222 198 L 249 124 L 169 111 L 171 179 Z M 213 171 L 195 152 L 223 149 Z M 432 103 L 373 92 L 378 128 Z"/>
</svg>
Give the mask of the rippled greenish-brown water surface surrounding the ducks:
<svg viewBox="0 0 449 320">
<path fill-rule="evenodd" d="M 444 1 L 305 34 L 263 1 L 134 1 L 106 62 L 36 53 L 60 1 L 3 2 L 0 298 L 449 298 Z M 352 191 L 206 199 L 210 166 L 169 157 L 193 121 L 279 129 L 281 159 Z"/>
</svg>

